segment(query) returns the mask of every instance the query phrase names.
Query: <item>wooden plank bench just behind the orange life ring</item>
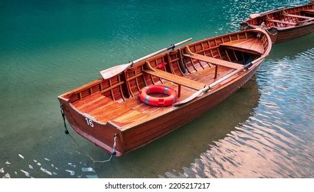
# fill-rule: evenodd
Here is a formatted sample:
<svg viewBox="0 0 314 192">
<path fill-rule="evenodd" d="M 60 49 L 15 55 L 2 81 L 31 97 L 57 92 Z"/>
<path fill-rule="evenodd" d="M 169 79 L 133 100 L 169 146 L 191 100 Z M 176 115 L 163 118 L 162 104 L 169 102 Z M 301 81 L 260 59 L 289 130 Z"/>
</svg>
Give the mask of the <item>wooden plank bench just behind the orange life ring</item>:
<svg viewBox="0 0 314 192">
<path fill-rule="evenodd" d="M 193 80 L 189 80 L 185 77 L 174 75 L 172 73 L 167 73 L 166 71 L 161 71 L 159 69 L 154 69 L 154 71 L 146 69 L 143 72 L 148 73 L 149 75 L 154 75 L 156 77 L 160 77 L 164 80 L 168 80 L 169 82 L 174 82 L 174 83 L 180 84 L 182 86 L 187 86 L 189 88 L 193 88 L 197 91 L 206 86 L 206 84 L 196 82 Z"/>
</svg>

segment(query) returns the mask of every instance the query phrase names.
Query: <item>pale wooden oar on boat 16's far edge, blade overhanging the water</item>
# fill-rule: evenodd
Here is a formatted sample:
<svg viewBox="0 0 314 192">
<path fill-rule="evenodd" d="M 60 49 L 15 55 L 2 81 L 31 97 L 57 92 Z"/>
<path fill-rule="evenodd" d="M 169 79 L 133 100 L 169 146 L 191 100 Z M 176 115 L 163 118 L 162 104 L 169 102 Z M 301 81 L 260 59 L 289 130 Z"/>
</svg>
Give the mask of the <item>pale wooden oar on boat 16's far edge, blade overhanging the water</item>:
<svg viewBox="0 0 314 192">
<path fill-rule="evenodd" d="M 105 69 L 103 71 L 100 71 L 99 73 L 101 73 L 101 76 L 103 76 L 103 78 L 105 80 L 109 79 L 110 77 L 113 77 L 114 75 L 117 75 L 118 73 L 121 73 L 122 71 L 125 71 L 125 69 L 127 69 L 128 67 L 131 67 L 132 64 L 136 64 L 137 62 L 143 61 L 147 58 L 151 58 L 152 56 L 156 56 L 159 53 L 163 53 L 164 51 L 167 51 L 169 49 L 174 49 L 175 47 L 177 47 L 178 45 L 181 45 L 183 43 L 187 43 L 189 40 L 192 40 L 192 38 L 188 38 L 187 40 L 182 40 L 179 43 L 176 43 L 174 45 L 171 45 L 170 47 L 166 47 L 164 49 L 160 49 L 159 51 L 156 51 L 154 53 L 150 53 L 149 55 L 143 57 L 143 58 L 139 58 L 137 60 L 134 60 L 133 62 L 129 62 L 127 64 L 120 64 L 114 67 L 111 67 L 109 69 Z"/>
</svg>

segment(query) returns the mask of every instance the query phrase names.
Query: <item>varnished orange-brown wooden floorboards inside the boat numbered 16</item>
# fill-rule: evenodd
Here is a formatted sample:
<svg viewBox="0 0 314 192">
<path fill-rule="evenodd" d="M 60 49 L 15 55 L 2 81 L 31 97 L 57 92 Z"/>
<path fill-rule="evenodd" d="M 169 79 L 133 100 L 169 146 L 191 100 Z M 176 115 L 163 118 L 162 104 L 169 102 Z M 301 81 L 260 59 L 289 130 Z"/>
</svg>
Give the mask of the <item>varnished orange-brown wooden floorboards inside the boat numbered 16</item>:
<svg viewBox="0 0 314 192">
<path fill-rule="evenodd" d="M 200 61 L 200 63 L 202 63 L 202 61 Z M 169 73 L 170 76 L 174 76 L 178 80 L 180 78 L 185 78 L 187 79 L 187 82 L 194 84 L 198 83 L 196 84 L 197 88 L 182 85 L 178 101 L 189 97 L 195 93 L 198 88 L 203 88 L 205 84 L 211 84 L 220 77 L 234 70 L 228 67 L 219 66 L 217 69 L 217 77 L 214 78 L 216 67 L 209 67 L 209 65 L 207 65 L 207 67 L 207 69 L 195 71 L 183 77 Z M 167 72 L 163 71 L 163 73 Z M 178 84 L 171 82 L 170 78 L 169 80 L 163 80 L 163 82 L 165 86 L 169 86 L 170 88 L 174 88 L 174 90 L 178 91 Z M 111 121 L 112 123 L 120 126 L 122 129 L 131 127 L 131 125 L 133 126 L 134 123 L 136 124 L 140 121 L 154 119 L 155 117 L 174 110 L 174 106 L 148 106 L 147 104 L 144 104 L 142 101 L 140 101 L 138 95 L 119 102 L 113 101 L 112 99 L 101 95 L 99 92 L 93 93 L 92 95 L 84 97 L 81 100 L 74 101 L 72 104 L 77 110 L 93 117 L 97 121 L 100 121 L 101 123 L 107 123 L 107 121 Z"/>
</svg>

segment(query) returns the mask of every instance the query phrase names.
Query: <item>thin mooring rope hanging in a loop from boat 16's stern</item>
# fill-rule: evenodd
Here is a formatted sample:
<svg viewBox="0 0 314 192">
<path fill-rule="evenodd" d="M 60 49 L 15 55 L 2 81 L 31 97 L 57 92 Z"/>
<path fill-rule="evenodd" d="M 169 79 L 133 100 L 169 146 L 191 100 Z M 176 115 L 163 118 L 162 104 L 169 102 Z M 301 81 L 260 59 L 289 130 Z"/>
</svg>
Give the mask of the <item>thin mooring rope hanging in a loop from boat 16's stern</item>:
<svg viewBox="0 0 314 192">
<path fill-rule="evenodd" d="M 94 164 L 95 163 L 106 163 L 106 162 L 109 162 L 112 159 L 112 157 L 116 155 L 116 138 L 118 137 L 118 134 L 114 134 L 114 147 L 112 149 L 111 156 L 107 160 L 95 160 L 94 158 L 92 158 L 92 156 L 90 156 L 90 154 L 85 149 L 83 149 L 83 147 L 81 147 L 79 145 L 79 143 L 76 142 L 74 137 L 70 134 L 69 130 L 67 130 L 67 124 L 65 123 L 65 114 L 64 114 L 63 105 L 61 105 L 60 107 L 61 107 L 61 115 L 62 115 L 62 118 L 63 118 L 63 125 L 64 125 L 64 128 L 65 128 L 65 132 L 64 133 L 67 134 L 68 136 L 70 136 L 70 138 L 75 143 L 75 145 L 77 147 L 79 147 L 79 149 L 81 149 L 83 152 L 85 152 L 87 154 L 87 156 L 90 158 L 90 160 L 92 160 L 92 162 Z"/>
</svg>

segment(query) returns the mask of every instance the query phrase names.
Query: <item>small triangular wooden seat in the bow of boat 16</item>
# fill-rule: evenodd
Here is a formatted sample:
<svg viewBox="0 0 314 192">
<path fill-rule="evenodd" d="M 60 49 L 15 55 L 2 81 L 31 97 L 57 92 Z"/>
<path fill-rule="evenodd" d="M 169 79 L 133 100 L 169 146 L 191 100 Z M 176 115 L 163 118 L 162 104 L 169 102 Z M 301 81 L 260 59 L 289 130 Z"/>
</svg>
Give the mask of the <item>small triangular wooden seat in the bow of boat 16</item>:
<svg viewBox="0 0 314 192">
<path fill-rule="evenodd" d="M 220 46 L 258 55 L 262 55 L 264 53 L 263 43 L 260 38 L 242 38 L 222 43 Z"/>
</svg>

